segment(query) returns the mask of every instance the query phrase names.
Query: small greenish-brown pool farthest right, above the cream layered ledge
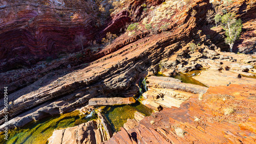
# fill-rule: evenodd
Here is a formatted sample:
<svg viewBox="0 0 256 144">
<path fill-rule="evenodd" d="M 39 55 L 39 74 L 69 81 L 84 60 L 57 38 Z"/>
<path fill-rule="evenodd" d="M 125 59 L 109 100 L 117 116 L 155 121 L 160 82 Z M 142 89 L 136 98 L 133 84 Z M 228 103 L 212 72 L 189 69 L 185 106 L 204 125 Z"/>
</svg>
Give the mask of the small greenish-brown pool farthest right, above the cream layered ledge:
<svg viewBox="0 0 256 144">
<path fill-rule="evenodd" d="M 198 76 L 200 72 L 201 72 L 200 70 L 193 70 L 193 71 L 189 71 L 187 74 L 179 73 L 174 78 L 181 80 L 183 83 L 190 83 L 190 84 L 196 84 L 196 85 L 207 87 L 206 85 L 200 83 L 199 81 L 191 78 L 191 77 Z"/>
</svg>

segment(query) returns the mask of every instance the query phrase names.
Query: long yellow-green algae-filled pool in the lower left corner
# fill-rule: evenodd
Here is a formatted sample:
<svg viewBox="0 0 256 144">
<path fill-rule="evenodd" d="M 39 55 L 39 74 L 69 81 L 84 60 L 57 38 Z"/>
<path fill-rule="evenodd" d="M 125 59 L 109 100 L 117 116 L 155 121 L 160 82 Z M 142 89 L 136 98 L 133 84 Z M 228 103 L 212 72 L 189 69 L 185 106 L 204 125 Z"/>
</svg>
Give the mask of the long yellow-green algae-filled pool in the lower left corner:
<svg viewBox="0 0 256 144">
<path fill-rule="evenodd" d="M 79 111 L 47 117 L 37 122 L 30 122 L 22 128 L 11 129 L 8 132 L 8 140 L 4 139 L 4 133 L 0 133 L 0 143 L 47 143 L 54 129 L 74 127 L 96 118 L 84 119 L 85 115 L 79 115 Z"/>
</svg>

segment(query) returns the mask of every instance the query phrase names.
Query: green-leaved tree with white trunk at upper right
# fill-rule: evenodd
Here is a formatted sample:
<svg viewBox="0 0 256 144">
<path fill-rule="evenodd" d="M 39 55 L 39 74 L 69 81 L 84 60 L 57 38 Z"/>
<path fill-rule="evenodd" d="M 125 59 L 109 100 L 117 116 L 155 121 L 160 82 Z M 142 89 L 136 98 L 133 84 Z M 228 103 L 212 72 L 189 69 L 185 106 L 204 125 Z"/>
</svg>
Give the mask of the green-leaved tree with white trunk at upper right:
<svg viewBox="0 0 256 144">
<path fill-rule="evenodd" d="M 229 44 L 229 52 L 232 52 L 234 42 L 240 38 L 242 32 L 242 20 L 237 20 L 234 13 L 227 13 L 221 17 L 221 22 L 226 31 L 225 42 Z"/>
</svg>

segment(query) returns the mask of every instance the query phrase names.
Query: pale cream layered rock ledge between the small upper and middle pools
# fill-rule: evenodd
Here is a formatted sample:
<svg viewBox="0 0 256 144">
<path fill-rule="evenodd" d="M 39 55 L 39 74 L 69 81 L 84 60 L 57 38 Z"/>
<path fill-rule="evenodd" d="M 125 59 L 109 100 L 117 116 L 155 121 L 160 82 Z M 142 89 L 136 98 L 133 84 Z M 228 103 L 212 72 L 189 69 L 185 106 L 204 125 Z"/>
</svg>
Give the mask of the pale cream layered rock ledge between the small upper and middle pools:
<svg viewBox="0 0 256 144">
<path fill-rule="evenodd" d="M 164 107 L 180 107 L 194 93 L 204 94 L 208 89 L 169 77 L 151 76 L 146 81 L 148 90 L 142 94 L 141 103 L 155 111 L 161 111 Z"/>
</svg>

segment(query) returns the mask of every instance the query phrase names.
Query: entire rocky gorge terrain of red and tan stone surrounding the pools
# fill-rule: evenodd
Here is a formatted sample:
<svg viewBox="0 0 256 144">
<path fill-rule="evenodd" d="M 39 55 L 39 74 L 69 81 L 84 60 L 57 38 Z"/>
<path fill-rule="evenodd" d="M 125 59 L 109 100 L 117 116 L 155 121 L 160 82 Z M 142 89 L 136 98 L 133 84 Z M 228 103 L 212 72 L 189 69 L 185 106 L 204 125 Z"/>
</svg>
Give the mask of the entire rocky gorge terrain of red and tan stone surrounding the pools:
<svg viewBox="0 0 256 144">
<path fill-rule="evenodd" d="M 136 114 L 113 137 L 105 135 L 108 122 L 103 124 L 98 113 L 96 120 L 54 131 L 49 142 L 255 142 L 254 1 L 121 1 L 107 18 L 92 1 L 0 4 L 0 86 L 8 86 L 9 93 L 8 123 L 0 97 L 1 129 L 87 105 L 133 103 L 131 97 L 146 77 L 147 91 L 139 101 L 159 112 Z M 206 21 L 209 9 L 234 12 L 242 19 L 241 39 L 233 49 L 239 53 L 225 52 L 225 31 Z M 127 30 L 131 22 L 138 29 Z M 118 37 L 103 45 L 108 32 Z M 79 35 L 82 43 L 76 41 Z M 159 71 L 167 77 L 154 76 Z M 193 78 L 193 84 L 171 78 L 180 72 Z M 232 111 L 226 114 L 225 108 Z"/>
</svg>

